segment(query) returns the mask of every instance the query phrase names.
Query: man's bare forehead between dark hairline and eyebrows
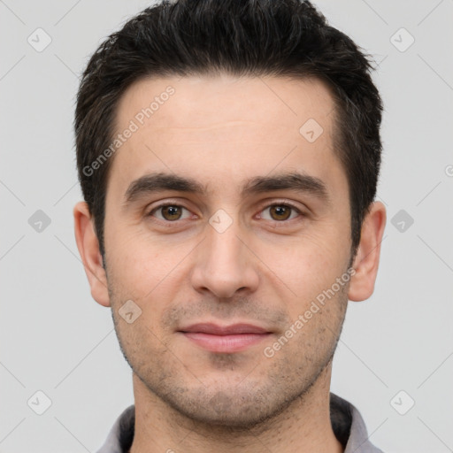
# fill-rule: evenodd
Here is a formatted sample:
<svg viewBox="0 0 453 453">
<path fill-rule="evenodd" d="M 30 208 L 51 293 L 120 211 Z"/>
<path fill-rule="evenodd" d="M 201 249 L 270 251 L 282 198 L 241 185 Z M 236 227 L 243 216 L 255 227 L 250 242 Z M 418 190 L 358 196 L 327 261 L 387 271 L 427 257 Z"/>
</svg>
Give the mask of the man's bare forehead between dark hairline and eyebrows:
<svg viewBox="0 0 453 453">
<path fill-rule="evenodd" d="M 322 81 L 227 75 L 147 78 L 120 99 L 116 134 L 128 138 L 111 173 L 127 184 L 146 173 L 177 173 L 215 186 L 285 168 L 326 173 L 334 100 Z M 223 184 L 223 182 L 222 182 Z"/>
</svg>

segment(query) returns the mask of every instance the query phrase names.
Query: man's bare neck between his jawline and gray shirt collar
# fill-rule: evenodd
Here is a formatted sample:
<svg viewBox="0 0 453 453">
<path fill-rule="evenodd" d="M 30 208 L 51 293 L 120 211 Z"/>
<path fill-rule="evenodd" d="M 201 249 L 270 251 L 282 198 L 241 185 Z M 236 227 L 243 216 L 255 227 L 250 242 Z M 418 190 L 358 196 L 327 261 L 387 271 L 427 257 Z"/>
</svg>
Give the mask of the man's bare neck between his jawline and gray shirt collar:
<svg viewBox="0 0 453 453">
<path fill-rule="evenodd" d="M 273 418 L 251 429 L 211 426 L 186 418 L 150 392 L 135 374 L 134 443 L 130 453 L 342 453 L 330 421 L 330 377 L 326 367 L 309 391 Z"/>
</svg>

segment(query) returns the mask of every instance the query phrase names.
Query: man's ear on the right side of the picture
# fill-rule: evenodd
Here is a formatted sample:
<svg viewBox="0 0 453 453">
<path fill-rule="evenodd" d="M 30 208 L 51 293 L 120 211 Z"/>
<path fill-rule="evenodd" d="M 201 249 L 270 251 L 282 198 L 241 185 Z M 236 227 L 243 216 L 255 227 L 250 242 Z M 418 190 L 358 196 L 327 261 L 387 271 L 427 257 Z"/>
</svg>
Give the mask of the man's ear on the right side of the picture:
<svg viewBox="0 0 453 453">
<path fill-rule="evenodd" d="M 372 295 L 378 273 L 380 242 L 386 226 L 386 208 L 380 202 L 372 203 L 362 224 L 360 242 L 354 258 L 356 273 L 350 280 L 348 298 L 364 301 Z"/>
</svg>

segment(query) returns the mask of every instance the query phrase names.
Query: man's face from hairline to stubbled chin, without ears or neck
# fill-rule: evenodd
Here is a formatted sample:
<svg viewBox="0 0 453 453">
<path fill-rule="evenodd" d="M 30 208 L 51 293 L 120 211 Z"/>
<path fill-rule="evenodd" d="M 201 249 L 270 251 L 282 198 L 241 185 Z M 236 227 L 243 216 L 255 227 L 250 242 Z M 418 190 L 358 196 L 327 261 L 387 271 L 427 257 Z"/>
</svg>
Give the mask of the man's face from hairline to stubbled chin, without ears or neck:
<svg viewBox="0 0 453 453">
<path fill-rule="evenodd" d="M 104 223 L 121 348 L 173 409 L 252 426 L 326 379 L 342 327 L 350 208 L 332 96 L 320 81 L 147 79 L 121 99 L 117 133 L 131 120 Z M 119 315 L 129 300 L 132 323 Z"/>
</svg>

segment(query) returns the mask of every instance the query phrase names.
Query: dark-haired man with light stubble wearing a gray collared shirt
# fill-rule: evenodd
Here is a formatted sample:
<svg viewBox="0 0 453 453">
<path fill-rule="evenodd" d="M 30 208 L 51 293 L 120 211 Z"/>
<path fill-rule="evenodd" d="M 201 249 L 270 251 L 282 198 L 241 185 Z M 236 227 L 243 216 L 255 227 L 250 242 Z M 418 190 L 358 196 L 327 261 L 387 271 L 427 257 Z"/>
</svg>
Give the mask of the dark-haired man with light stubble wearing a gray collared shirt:
<svg viewBox="0 0 453 453">
<path fill-rule="evenodd" d="M 296 0 L 157 4 L 91 58 L 75 234 L 135 403 L 100 452 L 380 451 L 329 391 L 386 218 L 370 69 Z"/>
</svg>

